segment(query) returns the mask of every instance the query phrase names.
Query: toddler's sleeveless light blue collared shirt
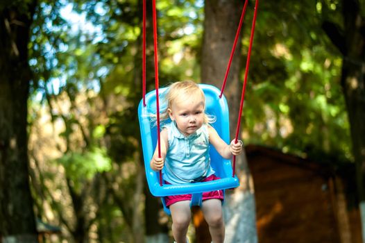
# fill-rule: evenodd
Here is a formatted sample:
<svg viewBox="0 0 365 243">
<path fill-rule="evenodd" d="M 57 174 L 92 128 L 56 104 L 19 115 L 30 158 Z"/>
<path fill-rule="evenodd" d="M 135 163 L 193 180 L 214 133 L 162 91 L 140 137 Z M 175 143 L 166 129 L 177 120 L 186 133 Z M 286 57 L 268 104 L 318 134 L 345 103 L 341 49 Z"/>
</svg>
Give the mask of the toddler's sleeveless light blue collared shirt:
<svg viewBox="0 0 365 243">
<path fill-rule="evenodd" d="M 167 151 L 163 179 L 171 184 L 192 183 L 201 176 L 211 176 L 210 144 L 207 124 L 195 133 L 185 136 L 176 123 L 164 125 L 167 128 L 169 151 Z"/>
</svg>

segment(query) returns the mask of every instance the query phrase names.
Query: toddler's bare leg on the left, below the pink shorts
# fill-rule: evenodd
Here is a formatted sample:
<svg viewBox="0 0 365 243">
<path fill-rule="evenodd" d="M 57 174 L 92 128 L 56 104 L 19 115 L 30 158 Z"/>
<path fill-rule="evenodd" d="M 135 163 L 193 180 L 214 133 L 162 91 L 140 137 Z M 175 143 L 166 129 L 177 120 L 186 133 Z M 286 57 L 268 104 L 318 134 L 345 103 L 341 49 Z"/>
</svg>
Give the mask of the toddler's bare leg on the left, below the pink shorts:
<svg viewBox="0 0 365 243">
<path fill-rule="evenodd" d="M 172 234 L 177 243 L 186 242 L 187 228 L 192 218 L 190 201 L 178 201 L 170 206 Z"/>
</svg>

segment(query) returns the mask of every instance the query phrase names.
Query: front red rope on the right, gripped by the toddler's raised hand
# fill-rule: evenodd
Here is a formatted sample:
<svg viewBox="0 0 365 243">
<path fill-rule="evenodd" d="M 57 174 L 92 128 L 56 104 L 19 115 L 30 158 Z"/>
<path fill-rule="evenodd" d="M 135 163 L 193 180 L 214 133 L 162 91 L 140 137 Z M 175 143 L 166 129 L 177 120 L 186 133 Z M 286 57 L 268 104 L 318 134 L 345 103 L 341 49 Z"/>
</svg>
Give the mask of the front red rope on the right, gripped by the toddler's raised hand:
<svg viewBox="0 0 365 243">
<path fill-rule="evenodd" d="M 255 1 L 255 12 L 253 14 L 253 21 L 252 21 L 252 28 L 251 28 L 250 45 L 248 47 L 247 60 L 246 60 L 246 69 L 245 69 L 245 74 L 244 74 L 244 87 L 242 87 L 241 103 L 240 103 L 240 106 L 239 106 L 235 143 L 238 142 L 239 128 L 241 127 L 241 114 L 242 114 L 242 110 L 244 108 L 244 94 L 245 94 L 245 90 L 246 90 L 248 67 L 250 65 L 251 49 L 252 49 L 252 43 L 253 43 L 253 34 L 255 33 L 255 24 L 256 24 L 256 15 L 257 15 L 258 4 L 259 4 L 259 0 L 256 0 Z M 232 173 L 233 177 L 235 176 L 235 170 L 236 170 L 236 156 L 233 156 L 233 173 Z"/>
</svg>

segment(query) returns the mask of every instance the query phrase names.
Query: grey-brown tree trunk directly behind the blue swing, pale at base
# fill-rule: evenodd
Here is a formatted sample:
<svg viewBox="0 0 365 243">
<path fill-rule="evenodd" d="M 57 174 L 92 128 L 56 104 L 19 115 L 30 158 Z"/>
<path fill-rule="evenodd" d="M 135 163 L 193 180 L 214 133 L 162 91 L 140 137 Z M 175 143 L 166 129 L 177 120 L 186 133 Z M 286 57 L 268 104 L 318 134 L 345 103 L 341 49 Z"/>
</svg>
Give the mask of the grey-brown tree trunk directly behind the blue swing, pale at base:
<svg viewBox="0 0 365 243">
<path fill-rule="evenodd" d="M 203 83 L 210 83 L 219 88 L 221 87 L 243 6 L 244 1 L 239 0 L 205 1 L 201 63 L 201 80 Z M 248 8 L 249 10 L 253 9 Z M 245 21 L 243 28 L 245 26 L 251 26 L 251 22 Z M 239 99 L 241 97 L 242 85 L 239 82 L 241 67 L 240 50 L 241 43 L 239 42 L 236 47 L 235 58 L 232 60 L 230 75 L 228 76 L 224 92 L 230 107 L 231 140 L 235 137 Z M 236 163 L 236 174 L 239 177 L 241 186 L 233 191 L 226 190 L 225 204 L 223 206 L 226 223 L 225 242 L 257 242 L 255 200 L 253 190 L 250 190 L 249 186 L 249 178 L 251 176 L 244 153 L 241 156 L 237 156 Z M 253 189 L 252 185 L 251 189 Z M 199 236 L 197 235 L 196 238 L 198 239 Z"/>
</svg>

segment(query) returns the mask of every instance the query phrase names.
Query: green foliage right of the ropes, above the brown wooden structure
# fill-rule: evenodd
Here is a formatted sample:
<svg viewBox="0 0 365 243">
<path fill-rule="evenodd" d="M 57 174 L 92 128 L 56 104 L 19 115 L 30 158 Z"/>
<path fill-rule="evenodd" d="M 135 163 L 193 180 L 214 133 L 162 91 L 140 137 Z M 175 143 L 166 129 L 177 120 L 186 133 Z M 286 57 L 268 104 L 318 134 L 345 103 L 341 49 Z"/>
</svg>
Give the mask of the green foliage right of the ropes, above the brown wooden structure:
<svg viewBox="0 0 365 243">
<path fill-rule="evenodd" d="M 261 3 L 244 108 L 248 143 L 352 158 L 341 56 L 321 29 L 327 9 L 314 1 Z"/>
</svg>

